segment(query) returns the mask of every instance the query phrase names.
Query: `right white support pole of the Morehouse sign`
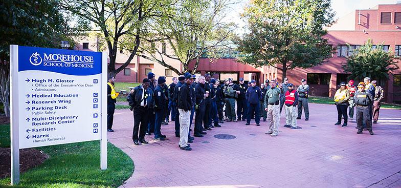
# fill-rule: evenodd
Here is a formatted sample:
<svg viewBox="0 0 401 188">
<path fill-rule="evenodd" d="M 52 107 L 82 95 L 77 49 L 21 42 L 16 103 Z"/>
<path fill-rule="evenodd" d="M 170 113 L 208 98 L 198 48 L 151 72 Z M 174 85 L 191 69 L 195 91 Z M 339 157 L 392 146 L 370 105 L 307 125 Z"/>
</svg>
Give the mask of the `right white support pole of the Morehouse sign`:
<svg viewBox="0 0 401 188">
<path fill-rule="evenodd" d="M 107 53 L 102 52 L 102 128 L 100 138 L 100 169 L 107 169 Z"/>
</svg>

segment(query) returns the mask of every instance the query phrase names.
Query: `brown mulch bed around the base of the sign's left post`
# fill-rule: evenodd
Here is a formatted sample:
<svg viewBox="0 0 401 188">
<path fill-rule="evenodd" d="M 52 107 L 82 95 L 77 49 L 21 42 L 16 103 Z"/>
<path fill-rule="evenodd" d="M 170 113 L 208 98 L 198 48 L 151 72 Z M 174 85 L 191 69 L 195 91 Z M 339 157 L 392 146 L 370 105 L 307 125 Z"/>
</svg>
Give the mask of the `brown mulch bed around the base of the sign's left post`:
<svg viewBox="0 0 401 188">
<path fill-rule="evenodd" d="M 43 163 L 49 158 L 48 155 L 35 149 L 19 150 L 19 172 L 26 172 L 28 169 Z M 0 178 L 11 176 L 11 150 L 10 148 L 0 148 Z"/>
</svg>

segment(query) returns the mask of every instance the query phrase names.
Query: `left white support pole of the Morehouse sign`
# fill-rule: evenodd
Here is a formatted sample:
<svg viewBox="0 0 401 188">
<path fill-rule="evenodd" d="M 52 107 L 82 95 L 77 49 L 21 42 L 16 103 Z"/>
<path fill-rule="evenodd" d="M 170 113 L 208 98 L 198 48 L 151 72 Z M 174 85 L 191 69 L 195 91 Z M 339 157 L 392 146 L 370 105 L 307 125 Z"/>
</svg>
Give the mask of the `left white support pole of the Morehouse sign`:
<svg viewBox="0 0 401 188">
<path fill-rule="evenodd" d="M 11 185 L 19 183 L 18 46 L 10 45 Z"/>
</svg>

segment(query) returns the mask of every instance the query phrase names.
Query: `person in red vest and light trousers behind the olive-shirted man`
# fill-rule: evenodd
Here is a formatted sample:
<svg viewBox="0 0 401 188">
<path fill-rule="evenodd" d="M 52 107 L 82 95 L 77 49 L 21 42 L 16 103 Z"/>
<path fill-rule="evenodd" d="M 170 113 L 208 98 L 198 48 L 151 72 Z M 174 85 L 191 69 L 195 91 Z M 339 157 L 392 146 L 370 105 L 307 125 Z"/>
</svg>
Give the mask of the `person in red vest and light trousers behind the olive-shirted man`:
<svg viewBox="0 0 401 188">
<path fill-rule="evenodd" d="M 284 95 L 285 103 L 285 125 L 284 127 L 297 129 L 297 105 L 298 105 L 298 92 L 294 89 L 292 83 L 287 84 L 287 91 Z"/>
</svg>

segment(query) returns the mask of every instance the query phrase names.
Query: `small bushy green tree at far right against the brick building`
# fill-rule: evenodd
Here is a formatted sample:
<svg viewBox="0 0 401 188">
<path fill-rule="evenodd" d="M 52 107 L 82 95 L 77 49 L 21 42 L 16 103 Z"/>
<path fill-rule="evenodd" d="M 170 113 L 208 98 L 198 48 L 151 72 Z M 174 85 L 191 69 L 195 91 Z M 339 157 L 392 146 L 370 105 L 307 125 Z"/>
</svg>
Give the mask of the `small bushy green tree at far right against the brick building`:
<svg viewBox="0 0 401 188">
<path fill-rule="evenodd" d="M 350 47 L 348 48 L 350 49 Z M 347 64 L 343 65 L 344 71 L 351 73 L 350 78 L 361 80 L 365 77 L 388 78 L 388 75 L 399 67 L 394 60 L 394 54 L 383 49 L 383 44 L 378 44 L 373 48 L 372 40 L 368 39 L 364 45 L 352 50 L 352 55 L 347 57 Z"/>
</svg>

